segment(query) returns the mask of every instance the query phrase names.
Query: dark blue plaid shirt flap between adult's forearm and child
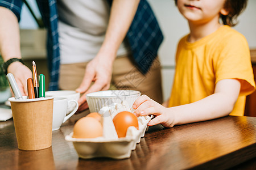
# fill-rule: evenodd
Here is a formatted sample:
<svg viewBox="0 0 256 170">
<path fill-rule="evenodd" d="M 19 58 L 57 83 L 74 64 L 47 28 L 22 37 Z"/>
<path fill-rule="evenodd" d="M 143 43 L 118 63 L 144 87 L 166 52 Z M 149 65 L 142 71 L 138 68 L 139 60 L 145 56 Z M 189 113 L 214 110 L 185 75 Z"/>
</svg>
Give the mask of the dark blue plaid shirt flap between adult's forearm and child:
<svg viewBox="0 0 256 170">
<path fill-rule="evenodd" d="M 127 39 L 133 52 L 138 69 L 146 74 L 158 55 L 163 34 L 158 21 L 146 0 L 141 0 L 133 22 L 127 33 Z"/>
</svg>

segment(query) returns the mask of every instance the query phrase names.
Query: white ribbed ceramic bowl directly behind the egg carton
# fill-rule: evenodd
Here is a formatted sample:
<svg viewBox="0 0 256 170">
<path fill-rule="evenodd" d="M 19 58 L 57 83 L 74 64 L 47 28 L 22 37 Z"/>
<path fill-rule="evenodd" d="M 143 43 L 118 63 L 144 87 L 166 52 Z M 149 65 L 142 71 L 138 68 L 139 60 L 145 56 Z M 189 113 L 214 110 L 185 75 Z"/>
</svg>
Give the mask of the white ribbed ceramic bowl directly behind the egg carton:
<svg viewBox="0 0 256 170">
<path fill-rule="evenodd" d="M 121 103 L 126 100 L 131 108 L 134 101 L 141 96 L 141 92 L 135 90 L 106 90 L 92 92 L 86 95 L 90 112 L 99 112 L 102 107 L 112 103 Z"/>
</svg>

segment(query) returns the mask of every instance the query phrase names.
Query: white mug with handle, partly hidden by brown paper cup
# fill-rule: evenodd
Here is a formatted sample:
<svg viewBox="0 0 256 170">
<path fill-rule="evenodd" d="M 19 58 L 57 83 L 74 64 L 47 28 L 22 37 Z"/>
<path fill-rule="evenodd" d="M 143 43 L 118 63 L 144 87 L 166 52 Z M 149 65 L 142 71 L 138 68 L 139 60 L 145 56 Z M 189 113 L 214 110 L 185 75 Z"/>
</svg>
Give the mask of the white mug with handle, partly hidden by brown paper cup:
<svg viewBox="0 0 256 170">
<path fill-rule="evenodd" d="M 67 108 L 69 103 L 75 103 L 75 108 L 67 116 Z M 68 100 L 65 97 L 54 97 L 53 99 L 53 115 L 52 115 L 52 130 L 60 129 L 61 124 L 67 121 L 79 108 L 76 100 Z"/>
</svg>

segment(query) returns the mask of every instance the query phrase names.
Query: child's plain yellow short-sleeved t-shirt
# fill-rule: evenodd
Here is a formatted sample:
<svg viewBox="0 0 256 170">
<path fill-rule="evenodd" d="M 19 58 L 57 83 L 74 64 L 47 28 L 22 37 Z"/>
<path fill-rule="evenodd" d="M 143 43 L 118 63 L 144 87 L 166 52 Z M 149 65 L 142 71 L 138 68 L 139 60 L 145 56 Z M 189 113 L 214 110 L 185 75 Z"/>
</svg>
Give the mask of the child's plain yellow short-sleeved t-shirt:
<svg viewBox="0 0 256 170">
<path fill-rule="evenodd" d="M 243 116 L 245 96 L 255 90 L 250 50 L 245 37 L 224 25 L 190 43 L 183 37 L 176 52 L 176 70 L 169 107 L 189 104 L 214 93 L 222 79 L 238 79 L 240 96 L 230 115 Z"/>
</svg>

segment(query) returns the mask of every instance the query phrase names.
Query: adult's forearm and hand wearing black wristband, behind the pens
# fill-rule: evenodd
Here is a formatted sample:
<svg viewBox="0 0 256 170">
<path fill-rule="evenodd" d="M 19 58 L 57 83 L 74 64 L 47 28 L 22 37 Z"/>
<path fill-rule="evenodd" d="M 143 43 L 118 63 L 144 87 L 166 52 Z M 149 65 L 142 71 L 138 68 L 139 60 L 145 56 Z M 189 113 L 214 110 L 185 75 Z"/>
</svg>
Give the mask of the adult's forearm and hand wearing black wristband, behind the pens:
<svg viewBox="0 0 256 170">
<path fill-rule="evenodd" d="M 0 25 L 0 53 L 3 60 L 21 58 L 18 19 L 8 8 L 0 7 Z M 26 80 L 32 77 L 30 69 L 20 62 L 13 62 L 7 73 L 14 75 L 22 95 L 27 95 Z"/>
</svg>

